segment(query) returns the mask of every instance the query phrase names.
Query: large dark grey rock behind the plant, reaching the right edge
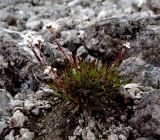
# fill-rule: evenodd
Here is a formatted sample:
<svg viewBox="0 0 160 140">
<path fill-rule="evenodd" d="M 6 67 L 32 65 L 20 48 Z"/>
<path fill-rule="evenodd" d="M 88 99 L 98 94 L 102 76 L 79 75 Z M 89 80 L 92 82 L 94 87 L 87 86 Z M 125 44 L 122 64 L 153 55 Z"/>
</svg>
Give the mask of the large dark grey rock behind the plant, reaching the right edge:
<svg viewBox="0 0 160 140">
<path fill-rule="evenodd" d="M 131 48 L 127 50 L 125 57 L 141 55 L 142 60 L 158 66 L 159 56 L 156 52 L 159 50 L 157 36 L 159 29 L 157 28 L 157 31 L 154 29 L 155 26 L 159 26 L 158 21 L 159 16 L 146 18 L 128 16 L 97 21 L 86 31 L 85 46 L 90 54 L 110 63 L 115 60 L 124 41 L 127 40 Z M 148 29 L 148 26 L 151 28 Z M 155 36 L 154 41 L 152 35 Z"/>
</svg>

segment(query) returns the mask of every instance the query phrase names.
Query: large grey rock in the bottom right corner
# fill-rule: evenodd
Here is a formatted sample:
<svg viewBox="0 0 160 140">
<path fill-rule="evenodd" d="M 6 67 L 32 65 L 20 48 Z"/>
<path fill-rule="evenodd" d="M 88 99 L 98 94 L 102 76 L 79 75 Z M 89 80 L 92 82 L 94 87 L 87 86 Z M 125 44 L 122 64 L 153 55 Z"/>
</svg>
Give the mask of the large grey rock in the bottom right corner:
<svg viewBox="0 0 160 140">
<path fill-rule="evenodd" d="M 160 136 L 159 92 L 155 89 L 149 95 L 144 94 L 134 116 L 129 120 L 129 125 L 146 137 Z"/>
</svg>

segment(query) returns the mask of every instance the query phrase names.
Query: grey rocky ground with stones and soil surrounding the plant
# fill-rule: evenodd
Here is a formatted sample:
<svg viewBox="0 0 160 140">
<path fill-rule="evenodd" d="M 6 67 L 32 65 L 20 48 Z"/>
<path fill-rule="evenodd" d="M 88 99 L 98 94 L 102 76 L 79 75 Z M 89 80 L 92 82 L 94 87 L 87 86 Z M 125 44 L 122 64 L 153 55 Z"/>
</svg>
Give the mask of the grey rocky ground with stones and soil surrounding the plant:
<svg viewBox="0 0 160 140">
<path fill-rule="evenodd" d="M 41 41 L 48 64 L 63 67 L 47 28 L 68 53 L 103 63 L 129 42 L 119 70 L 134 103 L 103 117 L 66 114 L 28 47 Z M 159 140 L 159 53 L 160 0 L 0 0 L 0 140 Z"/>
</svg>

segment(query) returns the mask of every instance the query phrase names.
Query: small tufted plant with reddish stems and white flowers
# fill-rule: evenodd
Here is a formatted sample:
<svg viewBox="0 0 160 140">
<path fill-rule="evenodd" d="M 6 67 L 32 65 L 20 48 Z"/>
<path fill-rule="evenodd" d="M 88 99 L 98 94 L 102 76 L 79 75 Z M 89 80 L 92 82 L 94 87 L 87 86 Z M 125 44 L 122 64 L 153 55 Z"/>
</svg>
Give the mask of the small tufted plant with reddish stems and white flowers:
<svg viewBox="0 0 160 140">
<path fill-rule="evenodd" d="M 98 60 L 89 62 L 78 58 L 76 54 L 69 56 L 56 39 L 54 30 L 48 30 L 53 34 L 53 41 L 68 62 L 68 65 L 63 70 L 48 66 L 41 50 L 39 49 L 40 55 L 37 55 L 36 51 L 34 51 L 34 46 L 40 48 L 38 45 L 31 45 L 30 47 L 40 65 L 43 66 L 44 74 L 53 79 L 53 82 L 48 84 L 56 91 L 54 95 L 69 102 L 70 109 L 78 107 L 80 110 L 89 109 L 90 112 L 94 110 L 103 111 L 106 101 L 117 102 L 117 99 L 122 96 L 119 89 L 126 81 L 119 76 L 116 69 L 126 50 L 130 48 L 130 44 L 128 42 L 123 44 L 112 65 L 100 65 Z"/>
</svg>

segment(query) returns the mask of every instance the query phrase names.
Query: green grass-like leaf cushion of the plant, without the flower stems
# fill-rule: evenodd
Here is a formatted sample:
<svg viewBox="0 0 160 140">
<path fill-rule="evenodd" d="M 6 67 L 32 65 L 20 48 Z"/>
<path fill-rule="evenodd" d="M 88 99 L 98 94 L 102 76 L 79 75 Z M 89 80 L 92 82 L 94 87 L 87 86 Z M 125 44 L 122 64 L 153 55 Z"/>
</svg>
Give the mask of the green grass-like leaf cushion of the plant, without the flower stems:
<svg viewBox="0 0 160 140">
<path fill-rule="evenodd" d="M 115 67 L 80 60 L 78 68 L 66 67 L 58 73 L 59 82 L 50 83 L 57 96 L 80 110 L 103 111 L 106 101 L 116 102 L 120 87 L 126 81 L 119 77 Z"/>
</svg>

